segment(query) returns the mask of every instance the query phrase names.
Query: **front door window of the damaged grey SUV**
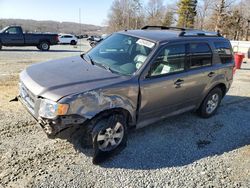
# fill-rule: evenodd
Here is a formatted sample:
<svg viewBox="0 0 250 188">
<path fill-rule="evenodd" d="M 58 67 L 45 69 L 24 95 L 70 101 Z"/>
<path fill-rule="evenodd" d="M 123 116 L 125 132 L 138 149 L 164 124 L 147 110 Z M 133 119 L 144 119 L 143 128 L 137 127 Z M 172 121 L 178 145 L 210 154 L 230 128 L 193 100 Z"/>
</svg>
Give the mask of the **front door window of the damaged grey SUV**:
<svg viewBox="0 0 250 188">
<path fill-rule="evenodd" d="M 150 70 L 150 76 L 167 75 L 184 71 L 185 60 L 185 44 L 167 46 L 157 56 Z"/>
</svg>

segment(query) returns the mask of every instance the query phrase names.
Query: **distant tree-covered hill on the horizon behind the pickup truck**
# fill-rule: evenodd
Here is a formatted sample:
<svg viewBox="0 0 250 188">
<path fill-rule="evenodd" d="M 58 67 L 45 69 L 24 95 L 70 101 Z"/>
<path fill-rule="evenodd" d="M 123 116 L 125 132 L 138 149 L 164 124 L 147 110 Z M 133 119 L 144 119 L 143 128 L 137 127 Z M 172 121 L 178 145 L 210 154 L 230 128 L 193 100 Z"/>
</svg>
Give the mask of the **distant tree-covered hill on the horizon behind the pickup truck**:
<svg viewBox="0 0 250 188">
<path fill-rule="evenodd" d="M 53 33 L 102 33 L 104 30 L 101 26 L 79 24 L 74 22 L 57 22 L 57 21 L 36 21 L 24 19 L 0 19 L 0 29 L 9 25 L 20 25 L 26 32 L 53 32 Z M 80 32 L 81 30 L 81 32 Z"/>
</svg>

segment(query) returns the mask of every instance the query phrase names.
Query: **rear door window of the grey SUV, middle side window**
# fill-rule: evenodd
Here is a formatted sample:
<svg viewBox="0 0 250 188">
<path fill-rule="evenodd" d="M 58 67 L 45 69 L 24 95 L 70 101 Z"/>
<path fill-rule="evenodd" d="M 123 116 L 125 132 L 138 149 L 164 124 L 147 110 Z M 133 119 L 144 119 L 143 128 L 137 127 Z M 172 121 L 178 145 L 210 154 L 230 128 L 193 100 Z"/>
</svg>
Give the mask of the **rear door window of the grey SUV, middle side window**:
<svg viewBox="0 0 250 188">
<path fill-rule="evenodd" d="M 195 69 L 212 64 L 212 51 L 207 43 L 190 44 L 190 69 Z"/>
</svg>

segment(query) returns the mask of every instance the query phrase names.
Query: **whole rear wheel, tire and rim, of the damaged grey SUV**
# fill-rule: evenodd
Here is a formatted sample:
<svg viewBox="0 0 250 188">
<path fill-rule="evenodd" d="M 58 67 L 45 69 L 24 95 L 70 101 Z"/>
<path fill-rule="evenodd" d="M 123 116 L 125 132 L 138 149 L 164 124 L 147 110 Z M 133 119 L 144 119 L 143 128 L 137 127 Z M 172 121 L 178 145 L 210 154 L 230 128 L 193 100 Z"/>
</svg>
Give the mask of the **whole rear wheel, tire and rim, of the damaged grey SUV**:
<svg viewBox="0 0 250 188">
<path fill-rule="evenodd" d="M 209 118 L 213 116 L 221 103 L 221 99 L 222 90 L 218 87 L 212 89 L 201 103 L 201 106 L 198 109 L 198 114 L 202 118 Z"/>
</svg>

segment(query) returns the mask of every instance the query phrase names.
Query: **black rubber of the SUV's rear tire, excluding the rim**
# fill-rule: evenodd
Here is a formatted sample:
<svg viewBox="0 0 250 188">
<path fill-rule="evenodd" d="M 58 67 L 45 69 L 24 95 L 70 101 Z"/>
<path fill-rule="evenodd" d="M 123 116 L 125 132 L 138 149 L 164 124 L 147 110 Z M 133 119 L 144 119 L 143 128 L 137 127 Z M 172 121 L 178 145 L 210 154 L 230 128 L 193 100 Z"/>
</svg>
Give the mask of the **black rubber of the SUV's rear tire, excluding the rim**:
<svg viewBox="0 0 250 188">
<path fill-rule="evenodd" d="M 211 98 L 211 96 L 214 95 L 214 94 L 216 94 L 216 93 L 219 95 L 218 105 L 217 105 L 217 107 L 215 108 L 215 110 L 212 113 L 208 114 L 206 112 L 207 102 Z M 206 96 L 206 98 L 204 99 L 204 101 L 202 102 L 202 105 L 201 105 L 201 107 L 199 109 L 201 117 L 203 117 L 203 118 L 209 118 L 209 117 L 213 116 L 217 112 L 218 107 L 220 106 L 221 99 L 222 99 L 222 90 L 220 88 L 218 88 L 218 87 L 212 89 L 208 93 L 208 95 Z"/>
</svg>

